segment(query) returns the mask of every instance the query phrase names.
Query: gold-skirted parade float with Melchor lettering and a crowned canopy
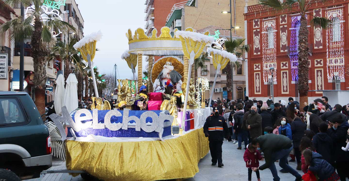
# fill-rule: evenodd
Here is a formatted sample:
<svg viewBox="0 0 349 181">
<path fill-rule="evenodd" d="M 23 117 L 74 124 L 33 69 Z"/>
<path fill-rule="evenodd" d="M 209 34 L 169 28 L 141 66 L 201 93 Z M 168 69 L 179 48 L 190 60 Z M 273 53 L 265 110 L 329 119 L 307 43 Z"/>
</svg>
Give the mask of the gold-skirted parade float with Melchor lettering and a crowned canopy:
<svg viewBox="0 0 349 181">
<path fill-rule="evenodd" d="M 202 126 L 211 113 L 204 102 L 210 87 L 205 77 L 194 79 L 194 59 L 207 51 L 217 72 L 237 60 L 222 49 L 207 48 L 214 42 L 208 34 L 186 28 L 171 36 L 170 28 L 163 27 L 159 36 L 154 29 L 148 37 L 142 28 L 134 34 L 128 30 L 129 50 L 121 58 L 134 80 L 118 80 L 116 108 L 111 110 L 96 92 L 92 110 L 69 113 L 63 107 L 62 115 L 50 116 L 66 143 L 67 169 L 124 181 L 185 179 L 199 172 L 198 162 L 209 150 Z M 90 67 L 100 38 L 94 33 L 74 46 Z M 146 83 L 143 56 L 148 62 Z M 155 56 L 161 58 L 154 61 Z M 97 90 L 94 75 L 92 79 Z M 137 86 L 134 98 L 133 85 Z"/>
</svg>

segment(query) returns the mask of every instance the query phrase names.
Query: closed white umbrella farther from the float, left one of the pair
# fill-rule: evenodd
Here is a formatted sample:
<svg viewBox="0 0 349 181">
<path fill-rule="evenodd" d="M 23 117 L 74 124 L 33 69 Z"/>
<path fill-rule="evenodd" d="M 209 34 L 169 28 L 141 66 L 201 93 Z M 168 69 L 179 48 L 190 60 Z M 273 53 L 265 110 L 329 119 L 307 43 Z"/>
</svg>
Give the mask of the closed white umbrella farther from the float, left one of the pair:
<svg viewBox="0 0 349 181">
<path fill-rule="evenodd" d="M 54 93 L 54 110 L 56 114 L 62 114 L 62 107 L 64 106 L 64 76 L 59 74 L 56 80 L 56 89 Z"/>
</svg>

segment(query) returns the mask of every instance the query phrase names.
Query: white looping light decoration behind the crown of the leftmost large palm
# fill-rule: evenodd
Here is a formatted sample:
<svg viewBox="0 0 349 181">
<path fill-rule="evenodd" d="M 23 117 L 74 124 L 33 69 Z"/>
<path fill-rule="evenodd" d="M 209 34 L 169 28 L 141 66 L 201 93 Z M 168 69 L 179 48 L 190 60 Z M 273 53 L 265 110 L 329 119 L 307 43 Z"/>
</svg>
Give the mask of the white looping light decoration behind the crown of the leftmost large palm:
<svg viewBox="0 0 349 181">
<path fill-rule="evenodd" d="M 52 9 L 51 11 L 49 11 L 49 8 L 45 5 L 42 5 L 41 6 L 41 9 L 42 9 L 42 13 L 40 14 L 41 16 L 41 19 L 43 22 L 46 22 L 47 20 L 51 19 L 51 18 L 58 18 L 59 20 L 63 20 L 63 18 L 59 15 L 59 11 L 58 9 Z M 27 19 L 28 18 L 28 14 L 32 14 L 33 12 L 35 11 L 35 6 L 29 6 L 26 10 L 25 10 L 25 13 L 24 13 L 24 19 Z M 29 12 L 29 13 L 28 13 Z M 30 23 L 31 25 L 34 26 L 34 20 L 32 20 L 32 22 Z M 59 34 L 62 33 L 61 30 L 58 29 L 58 33 L 55 32 L 55 31 L 52 31 L 52 36 L 53 37 L 56 37 L 58 36 Z"/>
</svg>

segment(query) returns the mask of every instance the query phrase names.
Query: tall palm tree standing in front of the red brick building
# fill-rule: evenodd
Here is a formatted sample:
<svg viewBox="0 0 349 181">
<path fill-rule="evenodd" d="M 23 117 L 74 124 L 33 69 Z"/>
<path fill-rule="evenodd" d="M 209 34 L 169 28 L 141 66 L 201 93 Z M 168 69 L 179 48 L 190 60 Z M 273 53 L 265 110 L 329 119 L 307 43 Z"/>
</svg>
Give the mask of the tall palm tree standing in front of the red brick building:
<svg viewBox="0 0 349 181">
<path fill-rule="evenodd" d="M 313 16 L 310 24 L 313 26 L 320 26 L 324 29 L 331 24 L 331 21 L 325 17 L 316 17 L 312 13 L 307 13 L 308 9 L 315 5 L 317 0 L 259 0 L 261 5 L 268 8 L 273 8 L 276 11 L 291 10 L 299 13 L 300 27 L 298 33 L 298 92 L 299 102 L 308 102 L 308 35 L 309 29 L 307 27 L 306 15 Z M 302 109 L 304 106 L 301 104 Z"/>
</svg>

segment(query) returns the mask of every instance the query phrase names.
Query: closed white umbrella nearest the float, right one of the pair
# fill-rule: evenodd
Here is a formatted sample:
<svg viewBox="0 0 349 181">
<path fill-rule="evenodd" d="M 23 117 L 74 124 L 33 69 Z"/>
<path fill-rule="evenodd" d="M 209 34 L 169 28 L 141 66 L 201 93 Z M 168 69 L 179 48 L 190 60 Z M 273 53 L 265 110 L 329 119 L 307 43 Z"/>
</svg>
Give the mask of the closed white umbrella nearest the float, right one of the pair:
<svg viewBox="0 0 349 181">
<path fill-rule="evenodd" d="M 77 104 L 77 79 L 75 74 L 69 74 L 64 95 L 64 106 L 67 107 L 69 113 L 75 110 Z"/>
</svg>

